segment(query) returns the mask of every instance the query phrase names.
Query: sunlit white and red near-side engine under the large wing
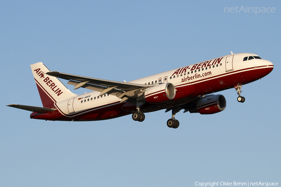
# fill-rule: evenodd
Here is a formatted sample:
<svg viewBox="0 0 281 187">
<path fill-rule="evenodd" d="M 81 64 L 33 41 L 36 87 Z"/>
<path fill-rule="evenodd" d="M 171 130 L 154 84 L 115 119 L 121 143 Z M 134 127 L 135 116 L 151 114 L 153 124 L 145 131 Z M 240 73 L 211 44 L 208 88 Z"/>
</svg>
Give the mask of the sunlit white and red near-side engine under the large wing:
<svg viewBox="0 0 281 187">
<path fill-rule="evenodd" d="M 163 83 L 145 90 L 147 103 L 165 103 L 175 98 L 175 86 L 172 83 Z"/>
</svg>

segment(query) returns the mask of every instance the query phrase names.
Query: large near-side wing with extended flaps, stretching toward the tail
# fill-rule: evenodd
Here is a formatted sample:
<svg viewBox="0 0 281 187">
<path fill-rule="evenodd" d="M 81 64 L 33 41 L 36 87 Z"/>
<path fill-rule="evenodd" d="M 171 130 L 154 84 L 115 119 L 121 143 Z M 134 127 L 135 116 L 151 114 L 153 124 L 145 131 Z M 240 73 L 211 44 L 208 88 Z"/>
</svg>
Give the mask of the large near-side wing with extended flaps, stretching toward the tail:
<svg viewBox="0 0 281 187">
<path fill-rule="evenodd" d="M 115 95 L 119 98 L 122 98 L 120 103 L 128 100 L 129 98 L 136 98 L 142 95 L 145 89 L 157 85 L 135 84 L 105 79 L 96 79 L 91 77 L 61 73 L 57 71 L 50 71 L 46 74 L 57 78 L 69 80 L 67 84 L 74 85 L 74 89 L 78 89 L 81 87 L 91 89 L 94 91 L 101 92 L 100 96 L 106 93 Z"/>
</svg>

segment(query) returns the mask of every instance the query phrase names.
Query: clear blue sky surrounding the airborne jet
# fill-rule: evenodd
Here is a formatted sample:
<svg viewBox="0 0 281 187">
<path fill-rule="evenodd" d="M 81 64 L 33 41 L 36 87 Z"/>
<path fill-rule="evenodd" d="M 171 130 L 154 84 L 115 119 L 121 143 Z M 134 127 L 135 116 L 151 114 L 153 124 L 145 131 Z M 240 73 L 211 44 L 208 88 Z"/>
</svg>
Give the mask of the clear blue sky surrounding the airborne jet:
<svg viewBox="0 0 281 187">
<path fill-rule="evenodd" d="M 0 2 L 0 186 L 196 186 L 278 182 L 279 1 Z M 231 13 L 224 7 L 274 7 Z M 261 80 L 219 92 L 213 115 L 165 110 L 106 121 L 33 120 L 7 104 L 42 106 L 30 64 L 126 81 L 222 55 L 249 52 L 274 64 Z M 66 84 L 67 81 L 62 80 Z M 76 94 L 86 89 L 73 90 Z"/>
</svg>

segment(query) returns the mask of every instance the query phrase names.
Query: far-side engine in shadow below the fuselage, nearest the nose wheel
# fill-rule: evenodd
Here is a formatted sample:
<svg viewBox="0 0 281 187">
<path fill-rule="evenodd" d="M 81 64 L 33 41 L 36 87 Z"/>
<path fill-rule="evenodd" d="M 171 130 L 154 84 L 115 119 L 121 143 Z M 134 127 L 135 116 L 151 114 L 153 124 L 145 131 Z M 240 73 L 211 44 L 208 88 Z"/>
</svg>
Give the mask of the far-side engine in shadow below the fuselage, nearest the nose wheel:
<svg viewBox="0 0 281 187">
<path fill-rule="evenodd" d="M 190 113 L 214 114 L 221 112 L 226 107 L 226 100 L 223 95 L 207 95 L 197 101 L 194 108 L 190 108 Z"/>
</svg>

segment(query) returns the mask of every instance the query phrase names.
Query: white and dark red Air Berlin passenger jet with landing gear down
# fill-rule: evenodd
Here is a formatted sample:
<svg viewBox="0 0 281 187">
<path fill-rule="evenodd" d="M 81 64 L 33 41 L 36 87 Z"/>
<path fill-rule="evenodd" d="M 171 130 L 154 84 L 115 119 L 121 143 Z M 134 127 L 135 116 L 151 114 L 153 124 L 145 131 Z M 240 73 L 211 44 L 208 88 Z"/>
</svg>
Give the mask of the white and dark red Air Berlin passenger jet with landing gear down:
<svg viewBox="0 0 281 187">
<path fill-rule="evenodd" d="M 273 63 L 256 54 L 232 52 L 128 82 L 50 71 L 42 62 L 30 66 L 43 107 L 7 106 L 31 111 L 32 119 L 95 121 L 132 114 L 133 120 L 143 122 L 144 113 L 166 109 L 165 112 L 172 111 L 167 121 L 170 128 L 179 127 L 175 114 L 182 109 L 184 113 L 200 114 L 223 111 L 224 96 L 212 93 L 235 88 L 237 101 L 244 103 L 242 85 L 261 79 L 274 68 Z M 74 94 L 58 78 L 68 80 L 74 89 L 92 91 Z"/>
</svg>

